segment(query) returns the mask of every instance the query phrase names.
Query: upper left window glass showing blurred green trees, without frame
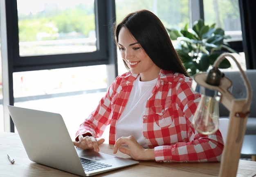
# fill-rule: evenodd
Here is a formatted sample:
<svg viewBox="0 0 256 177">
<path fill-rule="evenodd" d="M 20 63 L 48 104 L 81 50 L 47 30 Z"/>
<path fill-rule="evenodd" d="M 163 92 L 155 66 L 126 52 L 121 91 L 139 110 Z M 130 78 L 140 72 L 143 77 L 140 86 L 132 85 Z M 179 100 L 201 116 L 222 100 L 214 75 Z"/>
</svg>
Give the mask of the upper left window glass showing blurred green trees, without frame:
<svg viewBox="0 0 256 177">
<path fill-rule="evenodd" d="M 17 9 L 20 56 L 97 50 L 94 0 L 17 0 Z"/>
</svg>

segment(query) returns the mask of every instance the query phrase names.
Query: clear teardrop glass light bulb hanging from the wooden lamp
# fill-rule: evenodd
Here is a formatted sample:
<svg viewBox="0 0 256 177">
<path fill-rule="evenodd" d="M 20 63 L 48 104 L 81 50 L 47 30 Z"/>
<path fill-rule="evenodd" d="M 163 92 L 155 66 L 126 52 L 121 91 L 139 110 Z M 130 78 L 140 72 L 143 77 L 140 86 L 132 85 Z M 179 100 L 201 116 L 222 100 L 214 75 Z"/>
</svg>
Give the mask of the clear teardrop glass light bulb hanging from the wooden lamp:
<svg viewBox="0 0 256 177">
<path fill-rule="evenodd" d="M 219 127 L 219 103 L 217 96 L 203 95 L 195 111 L 192 123 L 194 128 L 201 134 L 215 133 Z"/>
</svg>

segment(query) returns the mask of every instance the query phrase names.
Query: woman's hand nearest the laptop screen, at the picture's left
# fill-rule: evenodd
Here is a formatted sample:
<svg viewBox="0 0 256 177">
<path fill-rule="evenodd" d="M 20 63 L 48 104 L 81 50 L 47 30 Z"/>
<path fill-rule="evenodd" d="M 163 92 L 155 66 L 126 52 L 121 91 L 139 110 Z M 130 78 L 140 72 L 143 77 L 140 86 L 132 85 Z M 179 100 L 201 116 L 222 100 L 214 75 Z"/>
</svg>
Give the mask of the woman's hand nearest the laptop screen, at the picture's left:
<svg viewBox="0 0 256 177">
<path fill-rule="evenodd" d="M 79 149 L 94 149 L 96 152 L 99 152 L 99 145 L 105 141 L 103 138 L 96 139 L 92 136 L 83 137 L 83 135 L 79 135 L 78 139 L 78 142 L 73 142 L 74 146 Z"/>
</svg>

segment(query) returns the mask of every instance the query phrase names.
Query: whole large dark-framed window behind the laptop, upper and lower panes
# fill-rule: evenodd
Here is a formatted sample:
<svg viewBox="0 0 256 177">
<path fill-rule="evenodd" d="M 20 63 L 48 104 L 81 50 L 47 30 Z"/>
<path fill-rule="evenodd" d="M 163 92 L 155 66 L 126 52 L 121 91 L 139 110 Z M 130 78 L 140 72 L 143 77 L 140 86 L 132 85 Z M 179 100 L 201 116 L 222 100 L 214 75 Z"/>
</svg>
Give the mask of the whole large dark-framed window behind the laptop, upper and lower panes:
<svg viewBox="0 0 256 177">
<path fill-rule="evenodd" d="M 112 74 L 111 0 L 5 2 L 10 104 L 58 112 L 76 130 Z"/>
</svg>

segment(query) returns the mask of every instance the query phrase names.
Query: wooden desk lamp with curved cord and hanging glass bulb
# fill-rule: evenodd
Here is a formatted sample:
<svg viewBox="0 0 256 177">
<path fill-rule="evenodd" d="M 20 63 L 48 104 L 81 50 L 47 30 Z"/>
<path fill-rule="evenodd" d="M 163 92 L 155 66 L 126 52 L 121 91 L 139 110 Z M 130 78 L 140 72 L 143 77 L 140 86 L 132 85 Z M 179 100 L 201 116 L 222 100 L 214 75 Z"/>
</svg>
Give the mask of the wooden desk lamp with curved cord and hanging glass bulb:
<svg viewBox="0 0 256 177">
<path fill-rule="evenodd" d="M 216 94 L 217 92 L 220 93 L 220 103 L 229 110 L 229 125 L 220 162 L 220 177 L 236 177 L 252 99 L 251 85 L 245 72 L 236 60 L 235 55 L 238 54 L 224 53 L 220 55 L 209 72 L 198 73 L 194 76 L 195 82 L 200 85 L 200 87 L 215 91 L 212 96 L 202 95 L 200 103 L 198 104 L 198 109 L 193 118 L 193 125 L 198 132 L 211 134 L 218 130 L 218 118 L 216 118 L 216 116 L 218 116 L 218 104 L 215 101 L 216 99 L 214 99 L 218 96 L 218 94 Z M 232 82 L 218 70 L 220 62 L 226 57 L 227 59 L 233 59 L 240 70 L 247 91 L 246 98 L 234 98 L 228 90 Z"/>
</svg>

